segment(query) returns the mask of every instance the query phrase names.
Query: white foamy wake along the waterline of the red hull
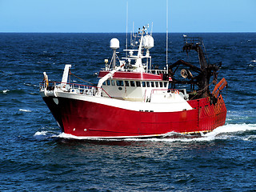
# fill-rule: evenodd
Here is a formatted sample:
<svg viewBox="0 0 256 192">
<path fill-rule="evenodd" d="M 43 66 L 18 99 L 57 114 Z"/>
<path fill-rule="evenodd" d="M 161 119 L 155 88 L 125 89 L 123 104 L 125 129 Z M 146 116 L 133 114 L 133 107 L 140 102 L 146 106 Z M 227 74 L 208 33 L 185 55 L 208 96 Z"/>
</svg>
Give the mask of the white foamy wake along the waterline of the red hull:
<svg viewBox="0 0 256 192">
<path fill-rule="evenodd" d="M 256 130 L 256 124 L 227 124 L 220 126 L 215 130 L 207 134 L 201 134 L 201 136 L 178 134 L 170 132 L 166 134 L 166 137 L 162 138 L 122 138 L 122 139 L 103 139 L 103 138 L 87 138 L 78 137 L 65 133 L 53 133 L 52 131 L 38 131 L 34 136 L 46 136 L 51 138 L 66 138 L 75 140 L 94 140 L 94 141 L 127 141 L 127 142 L 210 142 L 215 139 L 242 139 L 242 140 L 256 140 L 256 134 L 251 134 L 250 131 Z M 249 134 L 246 132 L 249 131 Z M 244 134 L 241 136 L 241 134 Z"/>
</svg>

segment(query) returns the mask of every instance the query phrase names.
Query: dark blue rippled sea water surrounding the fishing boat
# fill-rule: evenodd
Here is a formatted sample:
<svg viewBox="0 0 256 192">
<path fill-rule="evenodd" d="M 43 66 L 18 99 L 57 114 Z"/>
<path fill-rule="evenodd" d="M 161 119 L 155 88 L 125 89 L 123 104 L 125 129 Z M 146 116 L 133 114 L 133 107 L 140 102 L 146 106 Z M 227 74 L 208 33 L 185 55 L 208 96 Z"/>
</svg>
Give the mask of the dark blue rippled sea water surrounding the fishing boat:
<svg viewBox="0 0 256 192">
<path fill-rule="evenodd" d="M 42 72 L 60 81 L 69 63 L 96 83 L 110 39 L 121 52 L 126 34 L 0 34 L 0 191 L 254 191 L 256 34 L 188 35 L 204 39 L 210 62 L 222 61 L 226 125 L 202 137 L 88 141 L 60 132 L 38 94 Z M 154 34 L 150 50 L 158 66 L 165 37 Z M 169 40 L 170 63 L 197 61 L 182 52 L 182 34 Z"/>
</svg>

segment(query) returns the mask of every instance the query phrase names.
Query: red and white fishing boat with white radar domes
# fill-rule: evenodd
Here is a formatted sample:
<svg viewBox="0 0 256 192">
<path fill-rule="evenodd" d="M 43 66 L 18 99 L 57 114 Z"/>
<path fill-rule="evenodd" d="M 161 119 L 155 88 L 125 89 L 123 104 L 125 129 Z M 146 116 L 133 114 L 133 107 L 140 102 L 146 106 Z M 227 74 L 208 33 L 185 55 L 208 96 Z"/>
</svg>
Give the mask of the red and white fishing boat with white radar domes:
<svg viewBox="0 0 256 192">
<path fill-rule="evenodd" d="M 148 26 L 132 38 L 121 59 L 118 39 L 110 40 L 113 55 L 110 62 L 105 59 L 95 86 L 70 82 L 71 65 L 65 66 L 61 82 L 48 81 L 44 72 L 39 91 L 62 132 L 84 138 L 155 138 L 206 133 L 225 124 L 221 92 L 227 82 L 217 83 L 221 63 L 206 61 L 202 38 L 184 35 L 183 50 L 195 50 L 199 66 L 179 60 L 163 69 L 152 65 L 154 38 Z"/>
</svg>

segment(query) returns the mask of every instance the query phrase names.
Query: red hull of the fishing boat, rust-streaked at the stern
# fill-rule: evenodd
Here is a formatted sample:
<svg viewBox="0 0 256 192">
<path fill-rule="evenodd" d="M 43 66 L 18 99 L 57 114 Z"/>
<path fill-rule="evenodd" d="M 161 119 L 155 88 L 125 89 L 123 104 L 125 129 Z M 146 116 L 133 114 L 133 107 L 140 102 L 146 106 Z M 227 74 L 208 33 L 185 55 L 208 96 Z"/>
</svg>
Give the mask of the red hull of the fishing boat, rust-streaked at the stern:
<svg viewBox="0 0 256 192">
<path fill-rule="evenodd" d="M 82 137 L 154 137 L 169 132 L 208 132 L 226 121 L 222 95 L 210 104 L 209 98 L 189 101 L 193 110 L 179 112 L 144 112 L 124 110 L 94 102 L 70 98 L 44 97 L 44 101 L 62 131 Z"/>
</svg>

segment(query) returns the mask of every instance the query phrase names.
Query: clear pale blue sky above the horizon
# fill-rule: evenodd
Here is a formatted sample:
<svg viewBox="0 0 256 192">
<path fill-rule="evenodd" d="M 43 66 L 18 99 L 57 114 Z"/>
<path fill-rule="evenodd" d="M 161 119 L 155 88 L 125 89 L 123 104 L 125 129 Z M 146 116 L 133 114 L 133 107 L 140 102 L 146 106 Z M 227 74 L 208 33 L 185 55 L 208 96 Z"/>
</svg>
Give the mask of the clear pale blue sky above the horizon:
<svg viewBox="0 0 256 192">
<path fill-rule="evenodd" d="M 166 0 L 0 0 L 0 32 L 166 31 Z M 169 0 L 169 32 L 256 32 L 256 0 Z"/>
</svg>

